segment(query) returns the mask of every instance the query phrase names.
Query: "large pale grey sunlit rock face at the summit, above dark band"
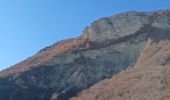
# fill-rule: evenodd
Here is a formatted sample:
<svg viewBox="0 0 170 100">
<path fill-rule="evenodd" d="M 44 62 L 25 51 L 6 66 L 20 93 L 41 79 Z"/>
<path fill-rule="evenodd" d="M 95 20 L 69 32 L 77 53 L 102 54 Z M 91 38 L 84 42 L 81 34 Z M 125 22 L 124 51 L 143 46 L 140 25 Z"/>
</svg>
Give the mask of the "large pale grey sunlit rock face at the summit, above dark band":
<svg viewBox="0 0 170 100">
<path fill-rule="evenodd" d="M 151 16 L 151 13 L 126 12 L 101 18 L 85 29 L 83 37 L 89 41 L 105 41 L 132 35 L 149 24 Z"/>
</svg>

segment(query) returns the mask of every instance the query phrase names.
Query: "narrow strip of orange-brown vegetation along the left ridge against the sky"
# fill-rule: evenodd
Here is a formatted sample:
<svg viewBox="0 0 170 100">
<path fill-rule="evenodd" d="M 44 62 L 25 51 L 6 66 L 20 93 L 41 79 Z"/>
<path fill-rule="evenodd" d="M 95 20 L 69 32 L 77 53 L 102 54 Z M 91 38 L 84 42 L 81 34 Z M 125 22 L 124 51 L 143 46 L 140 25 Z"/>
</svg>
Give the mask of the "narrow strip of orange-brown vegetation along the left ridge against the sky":
<svg viewBox="0 0 170 100">
<path fill-rule="evenodd" d="M 59 56 L 65 52 L 76 49 L 79 46 L 84 48 L 89 48 L 89 45 L 82 38 L 75 38 L 70 40 L 65 40 L 52 45 L 50 48 L 44 49 L 32 57 L 20 62 L 17 65 L 10 67 L 0 73 L 0 77 L 4 77 L 14 73 L 20 73 L 28 71 L 34 67 L 37 67 L 56 56 Z"/>
</svg>

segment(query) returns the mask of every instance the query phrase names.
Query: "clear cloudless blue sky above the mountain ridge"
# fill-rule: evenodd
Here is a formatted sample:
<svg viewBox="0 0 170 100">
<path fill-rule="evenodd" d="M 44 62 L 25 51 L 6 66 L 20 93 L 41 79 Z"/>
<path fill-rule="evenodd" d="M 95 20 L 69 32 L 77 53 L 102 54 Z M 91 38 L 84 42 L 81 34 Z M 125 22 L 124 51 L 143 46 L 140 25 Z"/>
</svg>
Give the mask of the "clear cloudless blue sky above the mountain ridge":
<svg viewBox="0 0 170 100">
<path fill-rule="evenodd" d="M 92 21 L 124 11 L 170 8 L 170 0 L 0 0 L 0 70 Z"/>
</svg>

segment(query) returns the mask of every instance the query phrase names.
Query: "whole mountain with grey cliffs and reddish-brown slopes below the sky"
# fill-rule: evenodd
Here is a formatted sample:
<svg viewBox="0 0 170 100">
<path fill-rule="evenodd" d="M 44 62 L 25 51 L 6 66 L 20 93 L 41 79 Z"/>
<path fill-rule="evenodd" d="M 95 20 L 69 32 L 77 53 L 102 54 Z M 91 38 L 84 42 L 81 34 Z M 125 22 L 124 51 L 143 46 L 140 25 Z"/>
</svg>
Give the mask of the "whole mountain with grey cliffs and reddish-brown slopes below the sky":
<svg viewBox="0 0 170 100">
<path fill-rule="evenodd" d="M 104 17 L 0 72 L 0 100 L 170 100 L 170 9 Z"/>
</svg>

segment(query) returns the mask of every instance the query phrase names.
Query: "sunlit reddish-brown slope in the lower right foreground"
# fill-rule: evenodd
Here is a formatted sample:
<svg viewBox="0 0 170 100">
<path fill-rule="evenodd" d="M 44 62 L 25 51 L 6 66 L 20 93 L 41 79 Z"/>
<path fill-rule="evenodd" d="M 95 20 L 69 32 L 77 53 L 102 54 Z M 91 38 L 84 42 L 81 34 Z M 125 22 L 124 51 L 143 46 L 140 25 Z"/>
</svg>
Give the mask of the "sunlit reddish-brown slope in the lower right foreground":
<svg viewBox="0 0 170 100">
<path fill-rule="evenodd" d="M 170 41 L 148 42 L 138 63 L 72 100 L 169 100 Z"/>
</svg>

